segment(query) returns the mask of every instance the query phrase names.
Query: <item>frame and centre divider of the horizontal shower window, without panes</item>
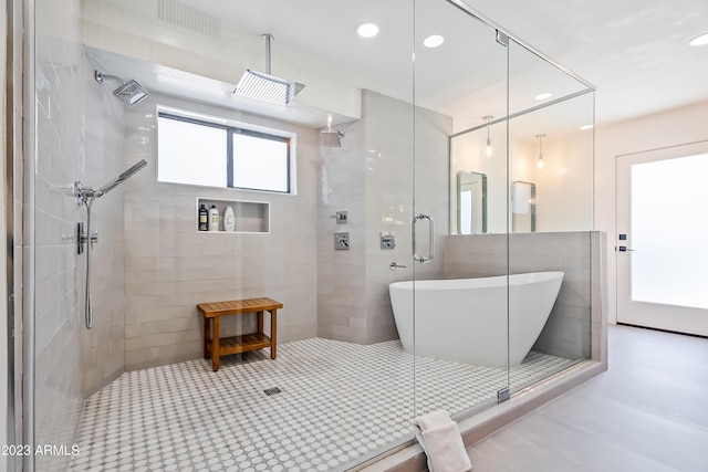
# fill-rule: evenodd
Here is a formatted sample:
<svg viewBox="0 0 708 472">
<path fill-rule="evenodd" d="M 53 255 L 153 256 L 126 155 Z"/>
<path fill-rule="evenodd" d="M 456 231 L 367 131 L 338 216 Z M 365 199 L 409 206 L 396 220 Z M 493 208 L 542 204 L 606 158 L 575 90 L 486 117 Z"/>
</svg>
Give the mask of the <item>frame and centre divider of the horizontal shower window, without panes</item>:
<svg viewBox="0 0 708 472">
<path fill-rule="evenodd" d="M 223 129 L 225 136 L 226 136 L 226 167 L 225 167 L 225 171 L 227 172 L 226 175 L 226 187 L 214 187 L 214 188 L 227 188 L 227 189 L 235 189 L 235 190 L 247 190 L 247 191 L 262 191 L 262 192 L 269 192 L 269 193 L 282 193 L 282 195 L 294 195 L 294 186 L 293 186 L 293 166 L 292 166 L 292 159 L 293 159 L 293 151 L 292 151 L 292 140 L 293 137 L 290 136 L 283 136 L 283 135 L 279 135 L 279 134 L 272 134 L 272 133 L 267 133 L 267 132 L 261 132 L 261 130 L 257 130 L 253 128 L 248 128 L 246 126 L 242 125 L 237 125 L 237 124 L 229 124 L 227 123 L 227 120 L 221 119 L 221 118 L 217 118 L 221 122 L 225 123 L 215 123 L 215 122 L 210 122 L 208 119 L 208 117 L 204 117 L 204 118 L 195 118 L 195 117 L 190 117 L 190 116 L 184 116 L 180 115 L 178 112 L 176 111 L 167 111 L 167 109 L 157 109 L 157 123 L 158 123 L 158 130 L 157 133 L 159 134 L 159 119 L 160 118 L 165 118 L 165 119 L 174 119 L 177 122 L 183 122 L 183 123 L 189 123 L 192 125 L 198 125 L 198 126 L 207 126 L 207 127 L 212 127 L 212 128 L 218 128 L 218 129 Z M 233 186 L 233 159 L 235 159 L 235 155 L 233 155 L 233 135 L 239 134 L 239 135 L 244 135 L 244 136 L 251 136 L 251 137 L 257 137 L 260 139 L 269 139 L 269 140 L 274 140 L 278 143 L 284 143 L 285 144 L 285 181 L 287 181 L 287 189 L 285 190 L 271 190 L 271 189 L 259 189 L 259 188 L 254 188 L 254 187 L 235 187 Z M 159 166 L 159 149 L 157 149 L 157 159 L 158 159 L 158 166 Z M 179 183 L 179 185 L 199 185 L 199 183 L 187 183 L 187 182 L 168 182 L 165 180 L 158 180 L 165 183 Z M 202 186 L 204 187 L 204 186 Z"/>
</svg>

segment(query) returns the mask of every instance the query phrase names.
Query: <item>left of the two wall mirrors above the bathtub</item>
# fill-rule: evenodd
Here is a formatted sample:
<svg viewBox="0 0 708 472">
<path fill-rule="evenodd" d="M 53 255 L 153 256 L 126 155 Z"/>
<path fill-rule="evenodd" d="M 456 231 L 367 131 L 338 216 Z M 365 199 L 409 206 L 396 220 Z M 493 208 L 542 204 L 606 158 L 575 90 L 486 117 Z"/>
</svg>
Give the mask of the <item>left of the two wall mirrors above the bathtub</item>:
<svg viewBox="0 0 708 472">
<path fill-rule="evenodd" d="M 487 176 L 457 172 L 457 228 L 460 234 L 487 232 Z"/>
</svg>

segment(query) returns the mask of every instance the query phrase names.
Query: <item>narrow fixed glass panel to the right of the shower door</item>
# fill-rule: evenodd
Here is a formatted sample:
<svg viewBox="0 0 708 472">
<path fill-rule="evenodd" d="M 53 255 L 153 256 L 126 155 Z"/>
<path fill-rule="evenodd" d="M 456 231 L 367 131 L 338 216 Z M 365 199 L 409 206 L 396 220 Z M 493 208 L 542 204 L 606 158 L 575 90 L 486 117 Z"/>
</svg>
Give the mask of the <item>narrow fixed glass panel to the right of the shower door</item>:
<svg viewBox="0 0 708 472">
<path fill-rule="evenodd" d="M 514 41 L 509 63 L 509 331 L 518 350 L 510 384 L 518 391 L 591 355 L 594 91 Z"/>
</svg>

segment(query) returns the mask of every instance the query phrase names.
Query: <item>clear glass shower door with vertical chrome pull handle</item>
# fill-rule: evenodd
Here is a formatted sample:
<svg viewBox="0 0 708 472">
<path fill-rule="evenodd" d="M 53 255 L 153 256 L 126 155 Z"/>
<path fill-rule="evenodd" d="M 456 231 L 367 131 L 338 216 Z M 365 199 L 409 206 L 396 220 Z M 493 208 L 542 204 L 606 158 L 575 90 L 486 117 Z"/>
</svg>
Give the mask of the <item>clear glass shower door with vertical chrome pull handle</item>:
<svg viewBox="0 0 708 472">
<path fill-rule="evenodd" d="M 417 1 L 415 29 L 416 416 L 461 418 L 496 403 L 508 385 L 508 50 L 492 28 L 444 1 Z M 444 42 L 429 48 L 434 34 Z M 458 211 L 460 175 L 483 177 L 476 208 L 487 206 L 496 234 L 457 234 L 468 217 Z M 473 292 L 472 279 L 492 276 L 496 287 Z"/>
</svg>

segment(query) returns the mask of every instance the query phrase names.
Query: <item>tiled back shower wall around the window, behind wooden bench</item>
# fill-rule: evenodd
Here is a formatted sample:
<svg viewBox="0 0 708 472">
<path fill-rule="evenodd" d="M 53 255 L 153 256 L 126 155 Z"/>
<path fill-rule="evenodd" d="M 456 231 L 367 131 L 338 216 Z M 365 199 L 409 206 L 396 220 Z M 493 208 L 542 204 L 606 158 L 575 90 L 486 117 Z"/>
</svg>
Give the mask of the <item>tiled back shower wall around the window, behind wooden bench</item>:
<svg viewBox="0 0 708 472">
<path fill-rule="evenodd" d="M 157 104 L 295 133 L 298 193 L 157 182 Z M 198 303 L 268 296 L 284 305 L 278 311 L 279 343 L 314 336 L 315 130 L 153 94 L 131 109 L 125 139 L 125 166 L 148 162 L 125 185 L 126 370 L 199 358 Z M 198 232 L 197 198 L 270 202 L 270 233 Z M 253 315 L 231 316 L 221 334 L 253 328 Z"/>
</svg>

